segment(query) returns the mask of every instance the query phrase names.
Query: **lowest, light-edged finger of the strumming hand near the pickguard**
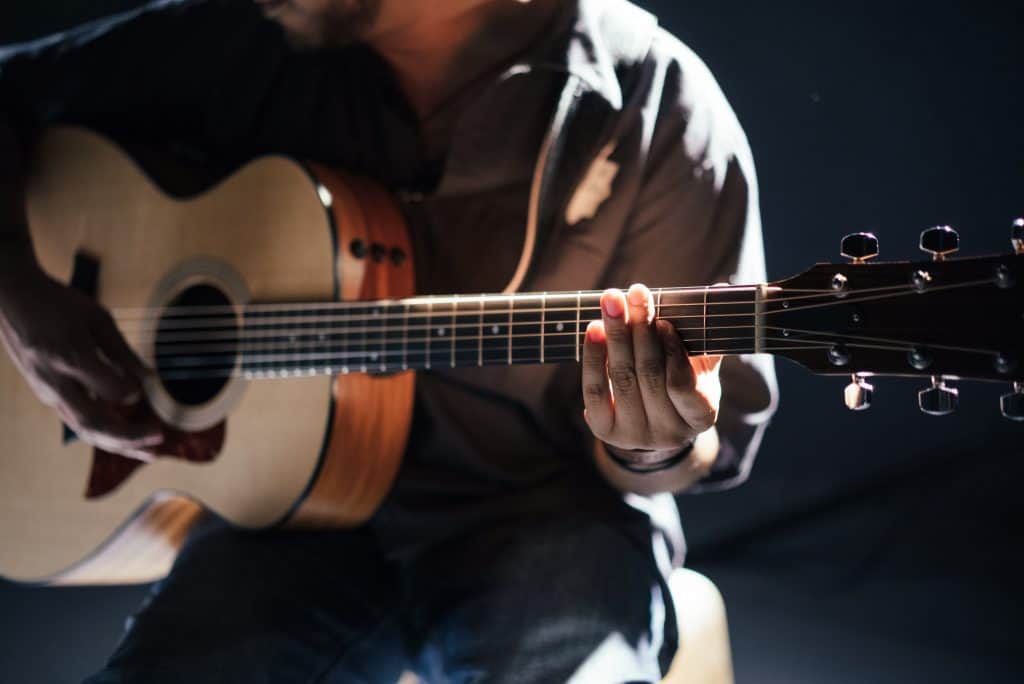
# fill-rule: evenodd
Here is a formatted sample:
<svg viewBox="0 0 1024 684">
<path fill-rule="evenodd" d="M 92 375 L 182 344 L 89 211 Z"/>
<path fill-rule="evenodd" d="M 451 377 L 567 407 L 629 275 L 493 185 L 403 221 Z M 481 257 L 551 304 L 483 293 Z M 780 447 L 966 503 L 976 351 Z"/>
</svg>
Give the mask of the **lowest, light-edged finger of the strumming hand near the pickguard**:
<svg viewBox="0 0 1024 684">
<path fill-rule="evenodd" d="M 84 387 L 68 378 L 56 379 L 52 387 L 60 397 L 57 412 L 89 443 L 123 454 L 163 442 L 163 430 L 156 421 L 127 421 L 112 407 L 90 398 Z"/>
</svg>

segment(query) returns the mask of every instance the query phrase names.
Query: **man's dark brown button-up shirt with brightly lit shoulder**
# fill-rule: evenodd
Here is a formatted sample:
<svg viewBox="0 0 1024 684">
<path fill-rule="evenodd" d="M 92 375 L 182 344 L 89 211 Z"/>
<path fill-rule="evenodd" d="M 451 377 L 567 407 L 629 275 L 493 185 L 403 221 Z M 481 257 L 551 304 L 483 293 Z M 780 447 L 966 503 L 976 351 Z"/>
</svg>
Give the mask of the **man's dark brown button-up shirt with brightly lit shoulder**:
<svg viewBox="0 0 1024 684">
<path fill-rule="evenodd" d="M 284 154 L 377 179 L 401 203 L 422 294 L 764 280 L 731 108 L 696 55 L 623 0 L 566 2 L 460 95 L 439 153 L 371 49 L 295 52 L 248 2 L 165 0 L 0 60 L 0 112 L 26 139 L 72 122 L 215 173 Z M 775 407 L 768 357 L 727 358 L 722 382 L 723 447 L 695 490 L 745 478 Z M 408 557 L 566 506 L 635 523 L 594 467 L 580 387 L 572 364 L 421 372 L 407 455 L 372 522 L 381 544 Z"/>
</svg>

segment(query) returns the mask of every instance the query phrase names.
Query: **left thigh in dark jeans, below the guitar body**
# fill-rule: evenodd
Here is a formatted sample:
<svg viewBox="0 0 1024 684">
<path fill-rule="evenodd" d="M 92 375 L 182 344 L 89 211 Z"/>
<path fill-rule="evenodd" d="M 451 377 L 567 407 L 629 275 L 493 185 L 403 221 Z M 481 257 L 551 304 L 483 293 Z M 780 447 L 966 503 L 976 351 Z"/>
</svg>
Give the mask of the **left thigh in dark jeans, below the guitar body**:
<svg viewBox="0 0 1024 684">
<path fill-rule="evenodd" d="M 394 595 L 365 531 L 247 532 L 208 520 L 87 681 L 393 682 Z"/>
</svg>

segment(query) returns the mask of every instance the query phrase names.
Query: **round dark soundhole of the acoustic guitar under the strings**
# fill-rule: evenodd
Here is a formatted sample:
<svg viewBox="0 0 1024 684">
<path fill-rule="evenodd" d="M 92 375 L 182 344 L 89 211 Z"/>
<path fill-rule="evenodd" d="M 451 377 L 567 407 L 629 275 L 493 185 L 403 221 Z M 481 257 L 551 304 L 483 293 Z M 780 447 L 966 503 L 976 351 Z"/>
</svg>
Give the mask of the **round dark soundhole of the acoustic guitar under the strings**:
<svg viewBox="0 0 1024 684">
<path fill-rule="evenodd" d="M 156 339 L 157 373 L 167 393 L 189 407 L 217 396 L 236 365 L 238 332 L 230 300 L 212 285 L 194 285 L 171 300 Z"/>
</svg>

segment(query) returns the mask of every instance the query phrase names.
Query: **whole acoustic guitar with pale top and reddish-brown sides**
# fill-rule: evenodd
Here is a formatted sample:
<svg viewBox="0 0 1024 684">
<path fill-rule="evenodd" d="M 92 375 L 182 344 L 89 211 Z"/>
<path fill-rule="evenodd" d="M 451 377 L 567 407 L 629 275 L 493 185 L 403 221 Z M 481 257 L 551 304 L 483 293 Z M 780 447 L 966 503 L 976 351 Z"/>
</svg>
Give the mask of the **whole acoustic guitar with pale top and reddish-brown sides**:
<svg viewBox="0 0 1024 684">
<path fill-rule="evenodd" d="M 366 179 L 283 157 L 204 194 L 172 198 L 95 133 L 48 131 L 28 216 L 41 265 L 93 295 L 155 370 L 168 425 L 152 463 L 83 443 L 0 354 L 0 574 L 130 583 L 166 573 L 203 507 L 260 528 L 352 526 L 401 459 L 416 371 L 580 360 L 599 292 L 414 296 L 409 237 Z M 283 240 L 282 236 L 288 236 Z M 921 408 L 951 412 L 951 379 L 1008 383 L 1024 419 L 1024 222 L 1014 252 L 950 259 L 957 237 L 922 234 L 932 258 L 849 262 L 771 284 L 654 291 L 693 354 L 769 353 L 847 375 L 928 378 Z"/>
</svg>

